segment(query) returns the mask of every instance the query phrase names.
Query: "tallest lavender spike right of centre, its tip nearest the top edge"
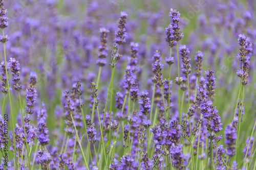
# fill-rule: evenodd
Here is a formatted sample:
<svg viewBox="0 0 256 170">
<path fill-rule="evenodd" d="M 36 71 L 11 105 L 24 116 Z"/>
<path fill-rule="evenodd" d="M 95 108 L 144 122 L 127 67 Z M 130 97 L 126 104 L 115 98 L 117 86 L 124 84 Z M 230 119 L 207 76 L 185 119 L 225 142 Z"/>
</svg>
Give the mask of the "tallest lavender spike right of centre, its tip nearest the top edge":
<svg viewBox="0 0 256 170">
<path fill-rule="evenodd" d="M 171 25 L 173 29 L 173 39 L 175 41 L 179 41 L 183 37 L 183 33 L 181 33 L 180 30 L 180 19 L 179 19 L 180 13 L 176 10 L 170 9 L 169 17 L 171 18 Z"/>
</svg>

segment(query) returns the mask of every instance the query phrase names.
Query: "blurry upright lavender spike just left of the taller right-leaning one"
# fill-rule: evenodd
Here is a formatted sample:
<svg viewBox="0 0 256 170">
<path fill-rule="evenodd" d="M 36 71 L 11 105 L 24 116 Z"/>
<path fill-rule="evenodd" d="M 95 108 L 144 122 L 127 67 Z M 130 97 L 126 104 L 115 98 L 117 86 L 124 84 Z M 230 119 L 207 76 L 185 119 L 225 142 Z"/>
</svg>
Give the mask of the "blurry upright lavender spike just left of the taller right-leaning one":
<svg viewBox="0 0 256 170">
<path fill-rule="evenodd" d="M 108 55 L 108 47 L 106 46 L 106 41 L 108 40 L 108 33 L 110 32 L 109 29 L 100 28 L 100 44 L 98 46 L 99 53 L 97 59 L 97 65 L 104 66 L 106 61 L 104 60 Z"/>
</svg>

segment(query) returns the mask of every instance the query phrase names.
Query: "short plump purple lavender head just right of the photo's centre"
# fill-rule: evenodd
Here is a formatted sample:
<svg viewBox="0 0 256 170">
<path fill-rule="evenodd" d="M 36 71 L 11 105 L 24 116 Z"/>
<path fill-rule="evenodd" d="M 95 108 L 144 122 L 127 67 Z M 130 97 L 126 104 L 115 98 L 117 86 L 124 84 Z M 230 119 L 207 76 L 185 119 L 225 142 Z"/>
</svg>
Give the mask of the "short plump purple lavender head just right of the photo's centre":
<svg viewBox="0 0 256 170">
<path fill-rule="evenodd" d="M 147 90 L 144 90 L 142 94 L 140 95 L 140 111 L 144 115 L 147 115 L 151 111 L 151 101 L 150 98 L 148 98 L 148 92 Z"/>
</svg>

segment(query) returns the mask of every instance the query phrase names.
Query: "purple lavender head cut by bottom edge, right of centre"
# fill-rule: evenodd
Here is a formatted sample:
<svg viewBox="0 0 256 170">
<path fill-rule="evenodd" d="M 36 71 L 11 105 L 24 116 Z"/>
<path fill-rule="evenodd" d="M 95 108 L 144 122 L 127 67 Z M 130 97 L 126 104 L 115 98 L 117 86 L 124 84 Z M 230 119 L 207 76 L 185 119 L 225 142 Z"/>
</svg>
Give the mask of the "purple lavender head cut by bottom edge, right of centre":
<svg viewBox="0 0 256 170">
<path fill-rule="evenodd" d="M 172 164 L 174 167 L 176 167 L 177 169 L 183 169 L 186 167 L 187 156 L 183 155 L 182 144 L 173 144 L 170 148 L 170 156 L 172 158 Z"/>
</svg>

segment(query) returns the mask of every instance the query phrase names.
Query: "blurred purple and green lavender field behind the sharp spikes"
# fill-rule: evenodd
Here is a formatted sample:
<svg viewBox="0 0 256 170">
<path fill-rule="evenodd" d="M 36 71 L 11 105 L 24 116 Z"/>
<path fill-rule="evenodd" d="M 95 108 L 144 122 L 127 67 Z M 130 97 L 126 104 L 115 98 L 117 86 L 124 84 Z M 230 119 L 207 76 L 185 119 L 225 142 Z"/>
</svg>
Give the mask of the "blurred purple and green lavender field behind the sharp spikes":
<svg viewBox="0 0 256 170">
<path fill-rule="evenodd" d="M 203 72 L 208 68 L 215 71 L 216 95 L 214 106 L 217 106 L 222 117 L 223 129 L 231 123 L 240 87 L 237 54 L 239 53 L 238 35 L 245 34 L 252 42 L 249 83 L 245 88 L 244 109 L 241 140 L 248 136 L 255 117 L 255 66 L 254 59 L 256 38 L 255 2 L 249 1 L 40 1 L 12 0 L 6 1 L 9 26 L 5 29 L 9 41 L 6 43 L 7 58 L 15 58 L 20 63 L 20 79 L 23 84 L 22 98 L 25 107 L 25 88 L 29 84 L 31 71 L 37 74 L 37 107 L 41 102 L 48 110 L 50 136 L 60 124 L 63 113 L 62 93 L 70 90 L 75 80 L 82 80 L 83 103 L 86 114 L 92 108 L 90 99 L 92 80 L 97 79 L 96 65 L 99 45 L 99 29 L 110 30 L 108 47 L 110 62 L 114 33 L 117 29 L 120 11 L 127 12 L 126 43 L 121 45 L 119 53 L 122 58 L 117 63 L 114 78 L 114 93 L 123 91 L 122 78 L 125 74 L 127 56 L 130 55 L 130 42 L 138 42 L 138 65 L 140 91 L 147 89 L 152 93 L 153 76 L 151 70 L 152 56 L 160 51 L 162 59 L 169 56 L 169 46 L 165 41 L 165 28 L 170 23 L 169 10 L 176 9 L 181 13 L 180 26 L 184 37 L 179 44 L 186 44 L 190 50 L 192 73 L 194 57 L 197 51 L 204 54 Z M 3 54 L 3 47 L 0 47 Z M 3 55 L 1 55 L 3 60 Z M 173 81 L 173 115 L 177 112 L 177 50 L 173 48 L 172 56 L 175 64 L 171 68 Z M 108 62 L 107 62 L 108 63 Z M 168 77 L 165 64 L 163 78 Z M 111 67 L 106 64 L 102 68 L 99 101 L 100 111 L 105 105 L 106 93 L 110 82 Z M 13 83 L 13 82 L 12 82 Z M 13 102 L 18 105 L 14 90 Z M 150 94 L 151 96 L 151 94 Z M 186 96 L 185 96 L 186 97 Z M 0 95 L 1 107 L 3 94 Z M 115 105 L 115 102 L 113 102 Z M 15 106 L 15 105 L 14 105 Z M 6 104 L 6 110 L 9 111 Z M 183 111 L 186 112 L 186 107 Z M 19 114 L 19 107 L 14 109 Z M 115 113 L 117 110 L 113 110 Z M 36 117 L 36 115 L 34 115 Z M 17 116 L 18 119 L 19 116 Z M 57 133 L 57 132 L 56 132 Z M 53 135 L 52 135 L 53 134 Z M 224 131 L 220 132 L 224 134 Z M 52 140 L 51 140 L 52 141 Z M 224 142 L 224 141 L 222 141 Z M 221 144 L 221 143 L 220 143 Z"/>
</svg>

